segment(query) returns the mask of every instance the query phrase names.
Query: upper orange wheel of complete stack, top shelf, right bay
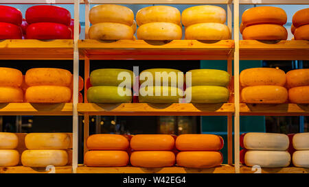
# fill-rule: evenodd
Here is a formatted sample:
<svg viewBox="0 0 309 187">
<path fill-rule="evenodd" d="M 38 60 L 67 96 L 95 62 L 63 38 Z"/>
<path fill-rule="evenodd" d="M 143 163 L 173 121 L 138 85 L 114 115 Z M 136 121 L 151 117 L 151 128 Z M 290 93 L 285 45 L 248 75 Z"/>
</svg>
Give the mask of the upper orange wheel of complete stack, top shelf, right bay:
<svg viewBox="0 0 309 187">
<path fill-rule="evenodd" d="M 271 6 L 258 6 L 249 8 L 242 14 L 244 27 L 257 24 L 286 24 L 286 12 L 282 8 Z"/>
</svg>

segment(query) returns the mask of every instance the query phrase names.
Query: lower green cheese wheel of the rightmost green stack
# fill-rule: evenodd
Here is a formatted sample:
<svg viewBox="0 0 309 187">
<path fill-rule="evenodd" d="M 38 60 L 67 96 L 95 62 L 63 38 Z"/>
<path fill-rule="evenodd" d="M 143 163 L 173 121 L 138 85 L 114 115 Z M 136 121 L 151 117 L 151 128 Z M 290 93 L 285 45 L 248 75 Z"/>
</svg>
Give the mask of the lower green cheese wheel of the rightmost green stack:
<svg viewBox="0 0 309 187">
<path fill-rule="evenodd" d="M 222 86 L 192 86 L 185 90 L 185 94 L 187 102 L 191 103 L 226 103 L 229 101 L 229 90 Z"/>
</svg>

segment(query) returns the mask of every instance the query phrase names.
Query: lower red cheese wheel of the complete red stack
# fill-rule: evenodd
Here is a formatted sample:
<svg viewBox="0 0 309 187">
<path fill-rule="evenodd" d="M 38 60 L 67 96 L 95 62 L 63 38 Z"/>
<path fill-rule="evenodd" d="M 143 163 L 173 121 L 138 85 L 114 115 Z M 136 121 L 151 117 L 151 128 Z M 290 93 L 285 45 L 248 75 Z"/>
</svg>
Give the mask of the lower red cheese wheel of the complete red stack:
<svg viewBox="0 0 309 187">
<path fill-rule="evenodd" d="M 60 23 L 32 23 L 27 27 L 27 39 L 56 40 L 71 39 L 72 31 Z"/>
</svg>

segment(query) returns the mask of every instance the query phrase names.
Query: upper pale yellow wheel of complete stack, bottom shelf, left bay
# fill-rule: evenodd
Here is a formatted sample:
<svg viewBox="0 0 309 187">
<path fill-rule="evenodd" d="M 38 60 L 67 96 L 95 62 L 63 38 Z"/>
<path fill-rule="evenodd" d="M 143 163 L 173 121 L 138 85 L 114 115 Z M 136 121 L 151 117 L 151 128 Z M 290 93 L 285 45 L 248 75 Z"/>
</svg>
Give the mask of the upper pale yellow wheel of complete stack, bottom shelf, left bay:
<svg viewBox="0 0 309 187">
<path fill-rule="evenodd" d="M 25 136 L 27 149 L 69 149 L 71 138 L 66 133 L 30 133 Z"/>
</svg>

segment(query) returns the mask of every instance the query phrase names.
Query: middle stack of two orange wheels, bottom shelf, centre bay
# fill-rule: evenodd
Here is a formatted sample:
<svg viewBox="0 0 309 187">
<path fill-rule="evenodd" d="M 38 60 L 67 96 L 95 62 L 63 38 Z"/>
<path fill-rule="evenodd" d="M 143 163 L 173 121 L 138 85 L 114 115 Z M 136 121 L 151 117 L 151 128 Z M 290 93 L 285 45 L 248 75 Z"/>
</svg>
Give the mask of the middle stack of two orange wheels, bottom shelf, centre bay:
<svg viewBox="0 0 309 187">
<path fill-rule="evenodd" d="M 175 164 L 175 140 L 168 134 L 138 134 L 133 136 L 130 147 L 132 166 L 157 168 Z"/>
</svg>

